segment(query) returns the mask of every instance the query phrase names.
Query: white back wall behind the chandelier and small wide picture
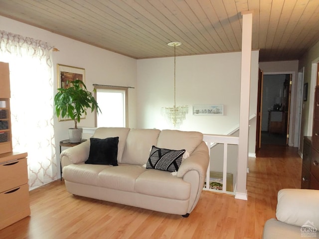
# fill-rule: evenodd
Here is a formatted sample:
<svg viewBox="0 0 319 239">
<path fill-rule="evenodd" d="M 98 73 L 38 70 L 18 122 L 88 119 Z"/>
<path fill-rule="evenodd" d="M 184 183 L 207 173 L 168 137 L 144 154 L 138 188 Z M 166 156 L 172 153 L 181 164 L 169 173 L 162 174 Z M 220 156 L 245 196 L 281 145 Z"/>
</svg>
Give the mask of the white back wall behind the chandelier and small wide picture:
<svg viewBox="0 0 319 239">
<path fill-rule="evenodd" d="M 252 52 L 250 115 L 256 114 L 259 51 Z M 172 107 L 173 57 L 138 60 L 138 127 L 171 128 L 160 114 Z M 176 57 L 176 105 L 187 105 L 179 129 L 227 134 L 239 126 L 241 53 Z M 193 105 L 224 105 L 224 116 L 193 116 Z M 256 118 L 250 122 L 249 152 L 255 153 Z"/>
</svg>

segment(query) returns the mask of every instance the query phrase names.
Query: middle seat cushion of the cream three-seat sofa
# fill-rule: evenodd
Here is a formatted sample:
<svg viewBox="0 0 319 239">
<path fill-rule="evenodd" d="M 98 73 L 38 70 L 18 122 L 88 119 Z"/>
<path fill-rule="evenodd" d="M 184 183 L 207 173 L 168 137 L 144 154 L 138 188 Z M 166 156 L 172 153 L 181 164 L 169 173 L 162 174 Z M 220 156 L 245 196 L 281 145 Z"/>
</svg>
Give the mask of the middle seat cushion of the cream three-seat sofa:
<svg viewBox="0 0 319 239">
<path fill-rule="evenodd" d="M 134 192 L 135 180 L 146 170 L 141 165 L 119 165 L 99 172 L 97 186 Z"/>
</svg>

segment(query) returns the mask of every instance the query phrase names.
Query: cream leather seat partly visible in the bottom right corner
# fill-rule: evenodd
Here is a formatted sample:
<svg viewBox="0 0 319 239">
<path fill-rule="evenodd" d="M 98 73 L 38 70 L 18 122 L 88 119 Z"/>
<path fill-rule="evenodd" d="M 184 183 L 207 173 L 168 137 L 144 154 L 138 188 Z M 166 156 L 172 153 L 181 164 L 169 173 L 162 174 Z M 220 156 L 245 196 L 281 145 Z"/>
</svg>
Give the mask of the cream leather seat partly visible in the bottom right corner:
<svg viewBox="0 0 319 239">
<path fill-rule="evenodd" d="M 319 238 L 319 190 L 280 190 L 276 218 L 266 222 L 263 239 Z"/>
</svg>

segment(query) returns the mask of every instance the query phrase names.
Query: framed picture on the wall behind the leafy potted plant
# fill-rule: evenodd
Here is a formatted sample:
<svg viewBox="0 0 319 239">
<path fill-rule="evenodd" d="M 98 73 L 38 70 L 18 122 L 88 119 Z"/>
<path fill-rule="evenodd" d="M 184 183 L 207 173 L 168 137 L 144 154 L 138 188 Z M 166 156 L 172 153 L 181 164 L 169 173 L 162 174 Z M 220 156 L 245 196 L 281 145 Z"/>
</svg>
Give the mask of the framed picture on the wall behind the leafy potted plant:
<svg viewBox="0 0 319 239">
<path fill-rule="evenodd" d="M 85 84 L 85 69 L 78 68 L 73 66 L 66 66 L 57 64 L 57 82 L 58 89 L 68 89 L 73 87 L 73 81 L 80 80 Z M 85 119 L 85 114 L 81 117 L 81 119 Z M 59 116 L 59 121 L 72 120 L 70 117 L 62 118 Z"/>
</svg>

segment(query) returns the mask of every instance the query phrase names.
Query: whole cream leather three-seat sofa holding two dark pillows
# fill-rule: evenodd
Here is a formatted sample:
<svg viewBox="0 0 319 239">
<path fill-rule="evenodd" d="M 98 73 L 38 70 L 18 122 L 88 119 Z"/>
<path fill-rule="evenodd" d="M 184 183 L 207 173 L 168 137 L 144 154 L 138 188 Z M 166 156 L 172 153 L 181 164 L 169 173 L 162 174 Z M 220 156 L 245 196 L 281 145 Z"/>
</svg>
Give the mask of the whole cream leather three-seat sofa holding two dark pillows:
<svg viewBox="0 0 319 239">
<path fill-rule="evenodd" d="M 119 137 L 118 166 L 85 163 L 91 153 L 100 151 L 93 150 L 93 139 L 112 137 Z M 90 140 L 61 152 L 66 189 L 74 195 L 188 217 L 199 200 L 209 163 L 202 140 L 202 133 L 193 131 L 97 128 Z M 146 168 L 153 145 L 186 150 L 177 172 Z"/>
</svg>

